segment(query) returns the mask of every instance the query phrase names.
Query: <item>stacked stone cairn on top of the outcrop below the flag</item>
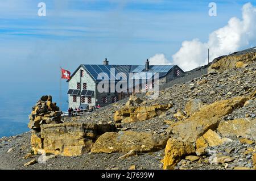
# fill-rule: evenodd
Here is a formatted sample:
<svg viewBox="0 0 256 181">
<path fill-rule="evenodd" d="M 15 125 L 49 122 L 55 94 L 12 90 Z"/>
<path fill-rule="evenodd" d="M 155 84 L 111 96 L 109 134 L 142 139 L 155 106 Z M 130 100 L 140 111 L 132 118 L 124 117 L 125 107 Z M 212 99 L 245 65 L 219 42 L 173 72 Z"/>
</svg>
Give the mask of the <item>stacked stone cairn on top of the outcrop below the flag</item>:
<svg viewBox="0 0 256 181">
<path fill-rule="evenodd" d="M 52 102 L 51 95 L 44 95 L 38 100 L 35 106 L 32 107 L 29 119 L 28 128 L 35 131 L 40 131 L 40 125 L 42 124 L 62 123 L 60 108 L 56 106 L 56 103 Z"/>
</svg>

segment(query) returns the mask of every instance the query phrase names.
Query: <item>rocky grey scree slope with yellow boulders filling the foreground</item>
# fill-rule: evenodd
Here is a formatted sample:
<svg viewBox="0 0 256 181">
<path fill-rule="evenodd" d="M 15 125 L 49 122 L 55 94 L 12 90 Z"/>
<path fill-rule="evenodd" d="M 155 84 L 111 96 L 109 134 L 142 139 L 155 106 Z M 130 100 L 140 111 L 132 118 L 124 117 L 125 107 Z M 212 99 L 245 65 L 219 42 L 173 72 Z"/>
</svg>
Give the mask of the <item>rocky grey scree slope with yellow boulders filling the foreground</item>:
<svg viewBox="0 0 256 181">
<path fill-rule="evenodd" d="M 0 139 L 0 169 L 254 169 L 255 52 L 217 58 L 208 72 L 60 124 L 34 112 L 40 130 Z"/>
</svg>

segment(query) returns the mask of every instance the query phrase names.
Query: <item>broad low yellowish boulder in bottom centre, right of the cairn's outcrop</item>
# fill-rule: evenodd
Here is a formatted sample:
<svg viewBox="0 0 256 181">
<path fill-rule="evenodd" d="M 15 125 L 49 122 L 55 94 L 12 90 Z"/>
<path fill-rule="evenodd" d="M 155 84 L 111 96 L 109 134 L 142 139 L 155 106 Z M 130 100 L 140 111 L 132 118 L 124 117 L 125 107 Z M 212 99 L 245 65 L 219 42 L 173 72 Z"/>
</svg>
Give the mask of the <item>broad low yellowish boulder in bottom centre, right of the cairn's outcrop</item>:
<svg viewBox="0 0 256 181">
<path fill-rule="evenodd" d="M 120 131 L 102 134 L 94 143 L 92 153 L 149 152 L 163 149 L 168 136 L 150 132 Z"/>
</svg>

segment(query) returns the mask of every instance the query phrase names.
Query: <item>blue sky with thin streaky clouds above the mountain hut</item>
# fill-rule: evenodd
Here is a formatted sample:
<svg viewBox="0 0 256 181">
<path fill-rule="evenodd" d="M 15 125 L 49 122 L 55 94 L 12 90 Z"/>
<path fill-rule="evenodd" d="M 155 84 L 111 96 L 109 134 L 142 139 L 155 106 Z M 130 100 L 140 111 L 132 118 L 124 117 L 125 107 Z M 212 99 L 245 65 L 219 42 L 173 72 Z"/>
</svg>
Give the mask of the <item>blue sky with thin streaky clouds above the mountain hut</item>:
<svg viewBox="0 0 256 181">
<path fill-rule="evenodd" d="M 45 17 L 37 15 L 39 2 L 46 3 Z M 23 81 L 52 82 L 59 65 L 72 71 L 105 57 L 111 64 L 143 64 L 156 53 L 171 60 L 184 40 L 207 41 L 230 18 L 241 18 L 247 1 L 214 1 L 216 17 L 208 15 L 209 2 L 1 0 L 1 77 L 14 81 L 14 71 Z M 47 74 L 37 75 L 42 71 Z"/>
</svg>

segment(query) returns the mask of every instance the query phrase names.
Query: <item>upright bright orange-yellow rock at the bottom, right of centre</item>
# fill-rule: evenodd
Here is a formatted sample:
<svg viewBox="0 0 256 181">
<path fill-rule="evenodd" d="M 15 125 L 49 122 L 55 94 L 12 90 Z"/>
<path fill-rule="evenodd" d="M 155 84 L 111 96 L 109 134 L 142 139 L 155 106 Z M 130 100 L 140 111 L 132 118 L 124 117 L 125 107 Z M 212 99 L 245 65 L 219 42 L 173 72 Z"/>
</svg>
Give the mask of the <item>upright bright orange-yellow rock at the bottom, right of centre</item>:
<svg viewBox="0 0 256 181">
<path fill-rule="evenodd" d="M 188 142 L 170 138 L 167 141 L 163 169 L 174 169 L 174 166 L 183 158 L 184 155 L 195 153 L 195 148 Z"/>
</svg>

